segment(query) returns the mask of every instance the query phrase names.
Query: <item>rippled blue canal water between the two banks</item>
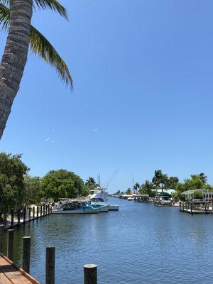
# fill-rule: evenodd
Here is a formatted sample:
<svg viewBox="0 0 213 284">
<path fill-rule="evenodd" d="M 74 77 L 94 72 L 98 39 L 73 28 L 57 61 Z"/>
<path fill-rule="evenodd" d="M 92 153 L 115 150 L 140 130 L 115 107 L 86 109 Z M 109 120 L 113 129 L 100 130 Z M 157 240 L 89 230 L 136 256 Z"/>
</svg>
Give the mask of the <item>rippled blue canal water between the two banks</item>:
<svg viewBox="0 0 213 284">
<path fill-rule="evenodd" d="M 57 284 L 83 283 L 82 266 L 98 265 L 98 283 L 209 284 L 213 278 L 213 215 L 178 207 L 110 200 L 119 212 L 50 215 L 16 229 L 31 236 L 31 274 L 45 283 L 45 247 L 56 248 Z"/>
</svg>

